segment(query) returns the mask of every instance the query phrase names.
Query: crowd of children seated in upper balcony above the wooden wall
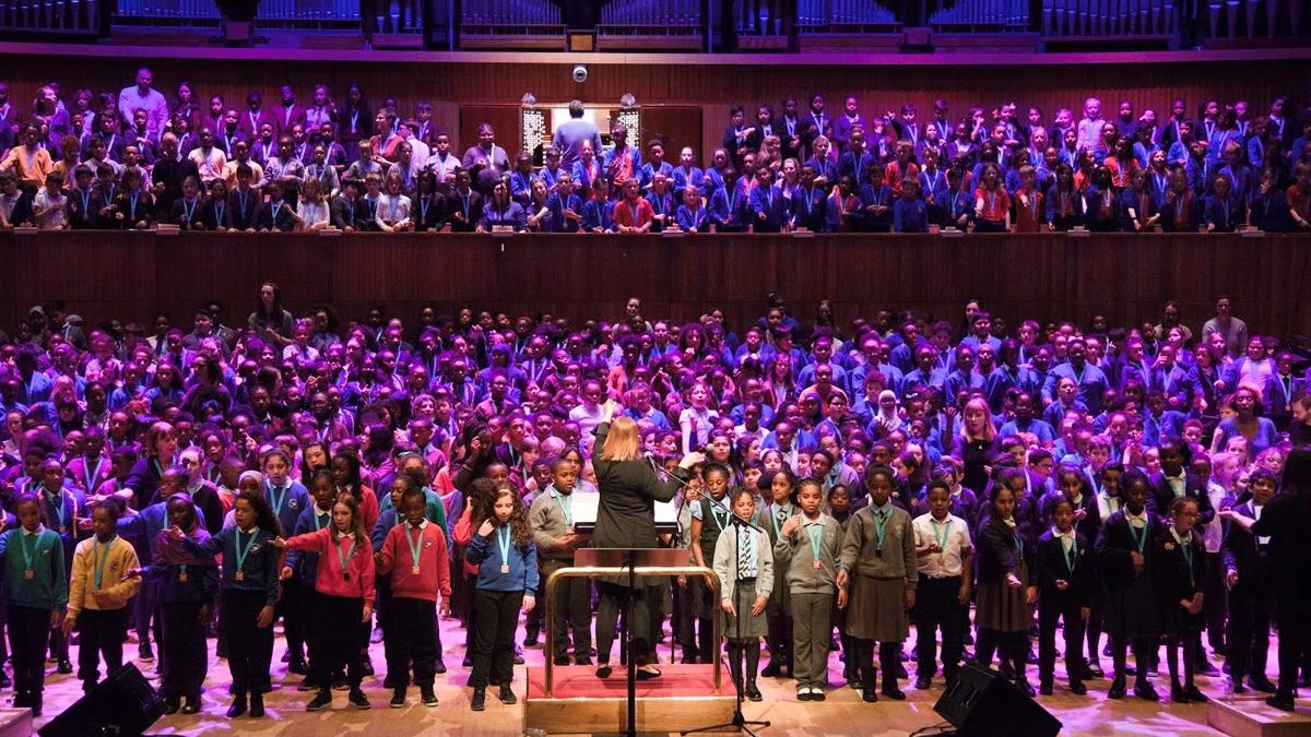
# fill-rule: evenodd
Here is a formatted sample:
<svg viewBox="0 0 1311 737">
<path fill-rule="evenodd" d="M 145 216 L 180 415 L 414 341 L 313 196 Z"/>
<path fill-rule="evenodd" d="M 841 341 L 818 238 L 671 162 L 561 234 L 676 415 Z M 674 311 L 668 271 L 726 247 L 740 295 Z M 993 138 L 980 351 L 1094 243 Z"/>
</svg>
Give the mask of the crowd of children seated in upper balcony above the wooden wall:
<svg viewBox="0 0 1311 737">
<path fill-rule="evenodd" d="M 937 100 L 884 115 L 819 94 L 730 111 L 722 146 L 676 159 L 615 123 L 608 136 L 513 160 L 488 123 L 452 152 L 420 101 L 375 110 L 358 85 L 265 105 L 42 87 L 24 113 L 0 81 L 0 227 L 354 232 L 1234 232 L 1311 229 L 1311 117 L 1287 97 L 1173 100 L 1116 115 L 1089 97 L 1045 111 Z M 149 100 L 149 110 L 142 101 Z M 135 102 L 134 102 L 135 101 Z M 582 104 L 572 108 L 582 115 Z M 581 121 L 576 121 L 581 122 Z M 1301 127 L 1299 127 L 1301 126 Z M 557 136 L 558 140 L 558 136 Z M 604 146 L 602 144 L 604 140 Z M 603 147 L 602 147 L 603 146 Z M 535 165 L 535 163 L 539 163 Z"/>
</svg>

